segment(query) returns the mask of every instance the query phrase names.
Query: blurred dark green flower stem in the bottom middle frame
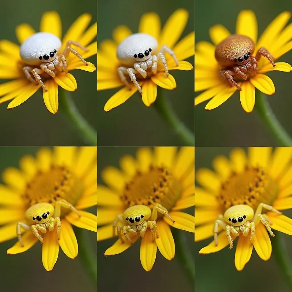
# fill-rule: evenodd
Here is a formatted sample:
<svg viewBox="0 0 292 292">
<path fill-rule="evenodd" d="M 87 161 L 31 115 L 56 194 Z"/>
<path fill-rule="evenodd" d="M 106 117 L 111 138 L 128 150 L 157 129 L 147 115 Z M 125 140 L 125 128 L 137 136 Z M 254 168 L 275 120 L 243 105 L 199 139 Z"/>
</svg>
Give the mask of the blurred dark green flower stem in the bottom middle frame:
<svg viewBox="0 0 292 292">
<path fill-rule="evenodd" d="M 187 277 L 192 285 L 195 284 L 195 261 L 192 253 L 187 246 L 184 231 L 177 228 L 172 229 L 172 234 L 175 242 L 175 256 L 180 261 Z"/>
</svg>

